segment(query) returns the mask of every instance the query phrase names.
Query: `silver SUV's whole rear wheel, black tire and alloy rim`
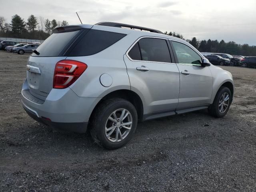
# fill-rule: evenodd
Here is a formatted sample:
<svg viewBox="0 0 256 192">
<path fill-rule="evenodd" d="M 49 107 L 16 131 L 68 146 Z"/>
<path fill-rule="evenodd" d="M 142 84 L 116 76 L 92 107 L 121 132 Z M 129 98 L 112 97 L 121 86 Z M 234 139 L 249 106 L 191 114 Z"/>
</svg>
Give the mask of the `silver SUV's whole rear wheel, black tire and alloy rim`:
<svg viewBox="0 0 256 192">
<path fill-rule="evenodd" d="M 117 149 L 130 141 L 136 131 L 137 122 L 137 112 L 132 103 L 112 98 L 103 101 L 92 114 L 90 132 L 98 145 Z"/>
</svg>

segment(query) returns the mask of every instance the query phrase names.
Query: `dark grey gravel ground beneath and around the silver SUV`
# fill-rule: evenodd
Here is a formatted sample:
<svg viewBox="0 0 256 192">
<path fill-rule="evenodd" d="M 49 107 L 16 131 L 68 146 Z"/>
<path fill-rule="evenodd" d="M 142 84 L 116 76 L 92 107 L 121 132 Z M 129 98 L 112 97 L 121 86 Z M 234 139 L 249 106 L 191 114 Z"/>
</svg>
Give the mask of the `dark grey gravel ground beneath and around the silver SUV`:
<svg viewBox="0 0 256 192">
<path fill-rule="evenodd" d="M 110 151 L 26 114 L 28 56 L 0 51 L 0 191 L 256 191 L 256 69 L 223 67 L 236 85 L 224 118 L 201 110 L 143 122 Z"/>
</svg>

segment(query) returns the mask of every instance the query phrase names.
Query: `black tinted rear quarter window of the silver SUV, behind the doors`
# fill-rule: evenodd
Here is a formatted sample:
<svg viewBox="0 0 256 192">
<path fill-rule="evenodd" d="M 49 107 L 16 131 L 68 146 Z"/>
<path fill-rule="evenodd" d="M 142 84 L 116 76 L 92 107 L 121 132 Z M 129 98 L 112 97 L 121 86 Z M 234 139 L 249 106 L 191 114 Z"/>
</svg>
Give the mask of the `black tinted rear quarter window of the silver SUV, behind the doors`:
<svg viewBox="0 0 256 192">
<path fill-rule="evenodd" d="M 91 29 L 76 44 L 69 56 L 88 56 L 96 54 L 118 42 L 124 36 L 126 36 L 126 34 Z"/>
</svg>

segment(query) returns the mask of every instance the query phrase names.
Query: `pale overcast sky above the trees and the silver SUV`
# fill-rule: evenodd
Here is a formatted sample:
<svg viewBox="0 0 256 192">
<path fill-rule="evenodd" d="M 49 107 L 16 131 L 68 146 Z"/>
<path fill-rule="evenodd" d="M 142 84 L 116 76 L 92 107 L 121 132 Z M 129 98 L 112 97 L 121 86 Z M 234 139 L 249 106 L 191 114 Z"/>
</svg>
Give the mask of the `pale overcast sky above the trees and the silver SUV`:
<svg viewBox="0 0 256 192">
<path fill-rule="evenodd" d="M 256 0 L 0 0 L 0 16 L 30 14 L 79 24 L 122 22 L 175 31 L 191 39 L 256 45 Z"/>
</svg>

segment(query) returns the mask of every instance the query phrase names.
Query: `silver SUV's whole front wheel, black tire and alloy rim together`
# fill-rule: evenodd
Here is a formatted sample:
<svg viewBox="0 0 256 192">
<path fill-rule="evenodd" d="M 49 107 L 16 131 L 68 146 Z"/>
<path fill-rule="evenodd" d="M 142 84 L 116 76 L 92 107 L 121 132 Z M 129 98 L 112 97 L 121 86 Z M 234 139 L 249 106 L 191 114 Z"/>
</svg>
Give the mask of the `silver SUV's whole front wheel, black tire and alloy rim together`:
<svg viewBox="0 0 256 192">
<path fill-rule="evenodd" d="M 224 117 L 228 112 L 231 101 L 232 95 L 229 88 L 221 86 L 214 98 L 214 102 L 208 107 L 208 112 L 217 118 Z"/>
</svg>

